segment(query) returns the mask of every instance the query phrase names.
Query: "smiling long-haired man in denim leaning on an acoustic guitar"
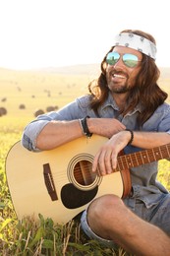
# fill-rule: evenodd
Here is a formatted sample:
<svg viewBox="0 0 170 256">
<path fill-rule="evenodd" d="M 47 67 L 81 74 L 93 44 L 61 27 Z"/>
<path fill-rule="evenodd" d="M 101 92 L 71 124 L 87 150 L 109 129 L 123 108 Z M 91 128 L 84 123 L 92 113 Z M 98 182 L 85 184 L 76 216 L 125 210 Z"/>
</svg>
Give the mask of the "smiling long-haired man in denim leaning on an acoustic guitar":
<svg viewBox="0 0 170 256">
<path fill-rule="evenodd" d="M 157 85 L 155 57 L 150 34 L 121 32 L 101 63 L 99 78 L 89 84 L 90 94 L 28 124 L 24 147 L 50 150 L 82 136 L 107 137 L 92 164 L 92 171 L 102 176 L 116 169 L 122 150 L 129 154 L 170 143 L 170 106 Z M 168 255 L 170 194 L 156 181 L 157 161 L 130 172 L 132 189 L 126 198 L 104 195 L 89 204 L 82 217 L 85 233 L 139 255 Z"/>
</svg>

